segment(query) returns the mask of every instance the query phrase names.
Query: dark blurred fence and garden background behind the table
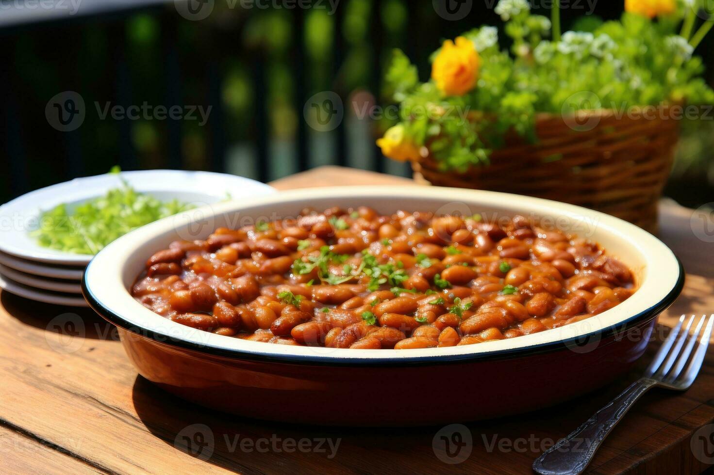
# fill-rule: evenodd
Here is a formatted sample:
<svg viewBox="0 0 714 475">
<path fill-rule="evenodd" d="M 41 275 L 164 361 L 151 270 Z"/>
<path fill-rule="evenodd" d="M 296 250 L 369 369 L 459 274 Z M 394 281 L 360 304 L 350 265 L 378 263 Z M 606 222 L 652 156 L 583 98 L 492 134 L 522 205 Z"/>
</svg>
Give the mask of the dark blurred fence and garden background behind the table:
<svg viewBox="0 0 714 475">
<path fill-rule="evenodd" d="M 496 0 L 465 0 L 463 18 L 437 3 L 0 0 L 0 203 L 113 165 L 261 181 L 328 164 L 409 176 L 374 145 L 388 120 L 369 114 L 388 105 L 391 50 L 402 48 L 426 79 L 442 39 L 501 24 Z M 531 4 L 548 15 L 550 1 Z M 563 1 L 563 27 L 622 11 L 620 0 Z M 710 83 L 713 46 L 709 35 L 697 51 Z M 74 108 L 77 96 L 84 107 Z M 714 111 L 681 125 L 665 194 L 697 208 L 714 201 Z"/>
</svg>

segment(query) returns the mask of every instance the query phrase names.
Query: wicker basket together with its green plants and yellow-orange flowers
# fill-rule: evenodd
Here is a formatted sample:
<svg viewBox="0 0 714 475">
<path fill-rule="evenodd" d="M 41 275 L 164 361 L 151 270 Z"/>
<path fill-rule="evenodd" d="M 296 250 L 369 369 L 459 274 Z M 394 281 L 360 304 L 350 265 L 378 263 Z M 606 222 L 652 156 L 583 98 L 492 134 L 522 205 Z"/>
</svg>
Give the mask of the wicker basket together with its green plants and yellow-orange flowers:
<svg viewBox="0 0 714 475">
<path fill-rule="evenodd" d="M 400 120 L 377 144 L 433 185 L 565 201 L 656 227 L 678 119 L 714 103 L 694 49 L 713 19 L 701 0 L 625 0 L 618 21 L 560 33 L 527 0 L 501 0 L 493 26 L 444 41 L 421 82 L 395 51 L 386 81 Z M 698 26 L 698 23 L 701 23 Z"/>
</svg>

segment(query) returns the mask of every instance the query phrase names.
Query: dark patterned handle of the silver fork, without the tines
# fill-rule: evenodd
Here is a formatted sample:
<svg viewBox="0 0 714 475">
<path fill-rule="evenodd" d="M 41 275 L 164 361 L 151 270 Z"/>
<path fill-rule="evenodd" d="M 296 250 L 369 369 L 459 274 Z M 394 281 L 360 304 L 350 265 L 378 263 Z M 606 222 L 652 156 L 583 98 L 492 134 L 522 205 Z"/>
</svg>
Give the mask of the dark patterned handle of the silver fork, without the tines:
<svg viewBox="0 0 714 475">
<path fill-rule="evenodd" d="M 610 404 L 595 412 L 585 424 L 535 459 L 533 470 L 542 475 L 582 473 L 615 424 L 655 384 L 657 382 L 649 378 L 641 378 L 630 384 Z"/>
</svg>

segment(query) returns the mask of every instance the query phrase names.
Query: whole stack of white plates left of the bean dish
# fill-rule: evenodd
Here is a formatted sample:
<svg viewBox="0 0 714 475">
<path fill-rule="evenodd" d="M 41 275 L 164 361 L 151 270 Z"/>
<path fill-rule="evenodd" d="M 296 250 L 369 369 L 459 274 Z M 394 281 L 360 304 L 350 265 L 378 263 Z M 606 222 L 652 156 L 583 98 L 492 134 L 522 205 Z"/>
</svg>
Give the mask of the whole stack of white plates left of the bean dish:
<svg viewBox="0 0 714 475">
<path fill-rule="evenodd" d="M 27 193 L 0 206 L 0 288 L 39 302 L 86 307 L 81 278 L 93 256 L 42 247 L 29 233 L 38 227 L 42 211 L 61 203 L 68 203 L 71 209 L 72 205 L 106 195 L 121 186 L 119 176 L 136 191 L 194 206 L 275 193 L 270 186 L 248 178 L 180 170 L 77 178 Z"/>
</svg>

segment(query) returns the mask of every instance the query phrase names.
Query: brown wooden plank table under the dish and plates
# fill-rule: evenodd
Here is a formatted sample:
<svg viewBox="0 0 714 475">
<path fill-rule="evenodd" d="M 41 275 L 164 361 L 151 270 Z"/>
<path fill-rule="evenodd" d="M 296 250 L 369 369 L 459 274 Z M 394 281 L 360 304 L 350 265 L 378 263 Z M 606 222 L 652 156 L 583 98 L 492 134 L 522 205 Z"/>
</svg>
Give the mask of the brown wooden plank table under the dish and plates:
<svg viewBox="0 0 714 475">
<path fill-rule="evenodd" d="M 367 183 L 411 181 L 326 167 L 273 185 L 287 189 Z M 682 297 L 660 320 L 666 325 L 683 313 L 714 311 L 712 245 L 695 238 L 689 218 L 690 211 L 684 208 L 663 207 L 661 237 L 688 271 Z M 58 317 L 67 312 L 76 315 Z M 139 377 L 113 327 L 89 310 L 39 304 L 3 292 L 0 335 L 0 471 L 13 474 L 530 473 L 543 448 L 585 421 L 637 374 L 553 409 L 466 424 L 473 438 L 471 456 L 448 465 L 437 459 L 432 448 L 439 427 L 305 427 L 244 419 L 183 402 Z M 650 353 L 656 345 L 650 345 Z M 428 395 L 420 397 L 428 405 Z M 714 422 L 713 398 L 714 351 L 688 392 L 655 389 L 645 394 L 610 434 L 590 470 L 602 474 L 702 471 L 706 465 L 693 455 L 690 441 L 700 428 Z M 176 448 L 177 439 L 178 446 L 185 446 L 181 440 L 186 434 L 213 436 L 208 460 Z M 339 441 L 333 457 L 326 444 L 321 446 L 326 451 L 316 450 L 315 440 L 325 438 L 333 444 Z M 241 449 L 243 439 L 249 440 Z M 308 442 L 303 442 L 302 451 L 296 450 L 293 442 L 300 439 L 310 439 L 314 450 L 305 450 Z M 206 455 L 198 451 L 198 456 Z"/>
</svg>

